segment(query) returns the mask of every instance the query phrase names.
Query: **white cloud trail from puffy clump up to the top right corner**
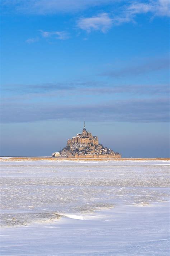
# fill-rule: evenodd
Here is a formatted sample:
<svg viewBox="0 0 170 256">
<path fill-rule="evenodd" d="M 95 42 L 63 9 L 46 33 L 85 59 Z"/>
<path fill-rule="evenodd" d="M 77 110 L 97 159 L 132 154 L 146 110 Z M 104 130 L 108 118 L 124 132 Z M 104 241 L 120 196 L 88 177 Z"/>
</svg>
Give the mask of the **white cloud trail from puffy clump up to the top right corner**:
<svg viewBox="0 0 170 256">
<path fill-rule="evenodd" d="M 120 26 L 123 23 L 135 22 L 139 14 L 150 13 L 151 17 L 170 16 L 169 0 L 150 0 L 142 3 L 138 1 L 127 1 L 127 4 L 121 6 L 115 13 L 101 13 L 92 17 L 82 17 L 77 21 L 77 27 L 87 32 L 100 30 L 107 32 L 112 26 Z"/>
</svg>

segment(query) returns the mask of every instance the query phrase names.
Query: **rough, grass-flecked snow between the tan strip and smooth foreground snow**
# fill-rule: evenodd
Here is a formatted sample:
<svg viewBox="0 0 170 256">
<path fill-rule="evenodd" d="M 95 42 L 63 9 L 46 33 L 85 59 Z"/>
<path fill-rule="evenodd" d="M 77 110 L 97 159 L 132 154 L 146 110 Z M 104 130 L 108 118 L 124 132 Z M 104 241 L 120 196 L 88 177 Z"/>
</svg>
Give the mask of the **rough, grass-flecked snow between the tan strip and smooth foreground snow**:
<svg viewBox="0 0 170 256">
<path fill-rule="evenodd" d="M 1 225 L 53 221 L 117 205 L 169 198 L 167 161 L 5 161 Z"/>
</svg>

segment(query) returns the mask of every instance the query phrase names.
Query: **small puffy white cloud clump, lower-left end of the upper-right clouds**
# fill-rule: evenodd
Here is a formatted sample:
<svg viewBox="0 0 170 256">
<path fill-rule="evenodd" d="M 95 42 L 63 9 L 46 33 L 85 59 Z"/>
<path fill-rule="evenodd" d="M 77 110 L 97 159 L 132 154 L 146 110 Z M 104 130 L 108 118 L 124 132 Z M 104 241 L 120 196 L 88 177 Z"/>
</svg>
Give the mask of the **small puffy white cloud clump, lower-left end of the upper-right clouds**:
<svg viewBox="0 0 170 256">
<path fill-rule="evenodd" d="M 80 18 L 77 26 L 87 32 L 100 30 L 105 33 L 112 27 L 112 18 L 109 17 L 108 13 L 101 13 L 91 18 Z"/>
</svg>

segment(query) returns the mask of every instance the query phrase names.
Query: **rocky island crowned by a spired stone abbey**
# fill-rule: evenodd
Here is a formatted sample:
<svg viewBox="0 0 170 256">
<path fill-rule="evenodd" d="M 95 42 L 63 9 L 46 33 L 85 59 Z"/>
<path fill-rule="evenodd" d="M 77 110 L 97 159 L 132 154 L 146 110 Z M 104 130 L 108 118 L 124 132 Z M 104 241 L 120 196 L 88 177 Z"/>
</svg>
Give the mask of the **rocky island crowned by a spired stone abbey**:
<svg viewBox="0 0 170 256">
<path fill-rule="evenodd" d="M 82 133 L 68 139 L 67 146 L 60 152 L 55 152 L 52 157 L 75 158 L 121 158 L 121 154 L 99 144 L 98 137 L 86 130 L 85 122 Z"/>
</svg>

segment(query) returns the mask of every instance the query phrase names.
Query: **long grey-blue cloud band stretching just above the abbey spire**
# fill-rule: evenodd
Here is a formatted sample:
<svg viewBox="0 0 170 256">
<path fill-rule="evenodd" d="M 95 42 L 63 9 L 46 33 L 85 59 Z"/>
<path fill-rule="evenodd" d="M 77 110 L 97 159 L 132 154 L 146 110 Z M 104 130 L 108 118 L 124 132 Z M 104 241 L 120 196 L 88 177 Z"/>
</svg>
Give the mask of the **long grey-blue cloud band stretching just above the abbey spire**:
<svg viewBox="0 0 170 256">
<path fill-rule="evenodd" d="M 124 122 L 167 122 L 169 121 L 169 99 L 129 99 L 112 103 L 87 105 L 57 105 L 56 103 L 22 103 L 6 102 L 2 106 L 1 121 L 33 122 L 39 120 L 81 120 L 89 121 L 124 121 Z"/>
</svg>

